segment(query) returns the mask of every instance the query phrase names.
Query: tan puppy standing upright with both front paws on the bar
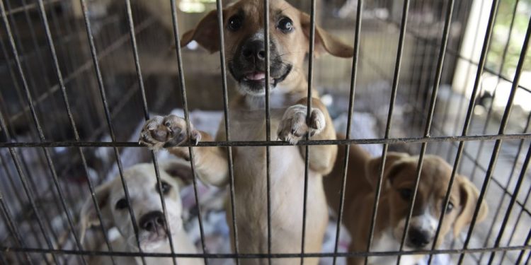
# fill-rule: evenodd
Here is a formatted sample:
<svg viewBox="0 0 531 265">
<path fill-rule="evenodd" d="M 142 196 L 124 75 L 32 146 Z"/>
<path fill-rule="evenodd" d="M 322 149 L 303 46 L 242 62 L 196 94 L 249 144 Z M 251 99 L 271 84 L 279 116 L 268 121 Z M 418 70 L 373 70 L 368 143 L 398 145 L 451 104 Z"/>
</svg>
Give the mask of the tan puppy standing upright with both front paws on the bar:
<svg viewBox="0 0 531 265">
<path fill-rule="evenodd" d="M 230 104 L 229 128 L 232 141 L 265 140 L 265 48 L 263 1 L 238 1 L 223 9 L 224 47 L 227 66 L 238 83 L 239 96 Z M 283 0 L 270 1 L 270 135 L 275 140 L 297 143 L 309 133 L 312 139 L 336 139 L 326 107 L 314 96 L 307 113 L 308 83 L 302 69 L 309 51 L 310 18 Z M 210 52 L 220 49 L 216 11 L 203 18 L 194 30 L 183 35 L 181 46 L 195 40 Z M 352 57 L 353 48 L 316 28 L 316 52 Z M 314 93 L 313 95 L 317 95 Z M 307 115 L 310 117 L 307 126 Z M 211 141 L 205 132 L 186 134 L 185 121 L 176 116 L 155 117 L 147 122 L 140 142 L 150 148 L 166 148 L 188 158 L 188 148 L 178 147 L 191 141 Z M 275 134 L 276 132 L 276 134 Z M 224 124 L 217 141 L 225 140 Z M 312 146 L 309 157 L 307 234 L 305 252 L 320 252 L 328 220 L 321 177 L 328 174 L 336 159 L 336 146 Z M 194 148 L 198 176 L 205 182 L 228 182 L 227 149 Z M 240 253 L 268 253 L 267 182 L 265 147 L 234 147 L 234 185 L 236 222 Z M 304 158 L 297 146 L 270 148 L 271 235 L 273 253 L 299 253 L 302 242 L 304 199 Z M 227 219 L 232 209 L 227 207 Z M 231 233 L 232 235 L 232 233 Z M 233 238 L 234 240 L 234 238 Z M 318 259 L 305 262 L 317 264 Z M 266 264 L 267 259 L 241 260 L 244 264 Z M 298 264 L 298 259 L 273 259 L 274 264 Z"/>
</svg>

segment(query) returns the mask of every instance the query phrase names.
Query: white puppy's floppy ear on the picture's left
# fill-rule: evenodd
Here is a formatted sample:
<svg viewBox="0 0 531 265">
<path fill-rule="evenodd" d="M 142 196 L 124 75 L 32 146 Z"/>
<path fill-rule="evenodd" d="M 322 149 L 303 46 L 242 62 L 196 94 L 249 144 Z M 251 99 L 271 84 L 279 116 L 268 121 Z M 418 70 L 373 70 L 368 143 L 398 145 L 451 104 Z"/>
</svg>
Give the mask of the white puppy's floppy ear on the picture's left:
<svg viewBox="0 0 531 265">
<path fill-rule="evenodd" d="M 98 208 L 100 208 L 103 222 L 109 220 L 108 199 L 112 183 L 113 182 L 107 182 L 96 188 L 96 191 L 94 192 L 96 201 L 98 201 Z M 89 196 L 89 198 L 87 198 L 83 203 L 83 206 L 81 207 L 81 213 L 79 214 L 79 235 L 81 242 L 84 240 L 86 229 L 93 225 L 101 224 L 96 212 L 96 207 L 93 204 L 92 196 Z"/>
</svg>

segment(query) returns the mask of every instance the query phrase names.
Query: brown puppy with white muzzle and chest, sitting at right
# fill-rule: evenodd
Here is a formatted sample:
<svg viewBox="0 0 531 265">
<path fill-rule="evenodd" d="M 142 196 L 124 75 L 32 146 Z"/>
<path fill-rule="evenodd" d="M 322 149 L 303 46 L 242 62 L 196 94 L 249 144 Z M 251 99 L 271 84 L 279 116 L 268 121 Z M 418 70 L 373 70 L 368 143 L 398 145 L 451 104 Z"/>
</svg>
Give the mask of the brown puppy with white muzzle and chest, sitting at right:
<svg viewBox="0 0 531 265">
<path fill-rule="evenodd" d="M 329 205 L 338 211 L 339 193 L 343 176 L 344 146 L 339 148 L 333 172 L 324 178 L 326 198 Z M 379 177 L 381 158 L 370 158 L 360 146 L 350 146 L 347 186 L 345 192 L 343 223 L 352 235 L 350 252 L 367 251 L 375 187 Z M 382 193 L 379 200 L 372 252 L 397 251 L 400 247 L 409 201 L 413 196 L 418 156 L 406 153 L 387 154 L 384 167 Z M 409 223 L 404 250 L 430 249 L 433 245 L 446 189 L 452 175 L 452 167 L 435 155 L 424 157 L 421 179 Z M 436 246 L 453 230 L 454 236 L 472 221 L 478 191 L 467 177 L 456 175 L 446 208 Z M 478 222 L 486 217 L 487 206 L 482 204 Z M 416 264 L 422 255 L 401 257 L 401 264 Z M 364 258 L 351 258 L 348 264 L 363 264 Z M 370 257 L 369 264 L 396 264 L 396 256 Z"/>
</svg>

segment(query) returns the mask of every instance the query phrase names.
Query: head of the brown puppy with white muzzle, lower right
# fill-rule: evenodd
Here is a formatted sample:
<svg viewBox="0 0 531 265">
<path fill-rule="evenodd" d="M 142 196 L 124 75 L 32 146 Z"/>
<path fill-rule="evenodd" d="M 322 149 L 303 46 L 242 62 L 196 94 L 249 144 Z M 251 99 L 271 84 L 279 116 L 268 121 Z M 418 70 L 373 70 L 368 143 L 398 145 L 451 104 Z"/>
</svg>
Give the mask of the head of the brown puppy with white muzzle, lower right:
<svg viewBox="0 0 531 265">
<path fill-rule="evenodd" d="M 373 158 L 367 164 L 367 176 L 375 183 L 381 158 Z M 396 240 L 401 240 L 409 213 L 409 203 L 416 181 L 418 156 L 405 153 L 389 153 L 384 167 L 383 194 L 389 203 L 389 224 Z M 452 176 L 452 167 L 435 155 L 426 155 L 413 206 L 413 215 L 406 235 L 406 247 L 424 249 L 433 245 L 440 213 L 445 203 L 446 189 Z M 478 199 L 478 191 L 467 177 L 456 175 L 450 192 L 450 202 L 445 208 L 440 235 L 440 245 L 453 228 L 454 236 L 472 221 Z M 481 204 L 478 221 L 486 217 L 487 206 Z"/>
</svg>

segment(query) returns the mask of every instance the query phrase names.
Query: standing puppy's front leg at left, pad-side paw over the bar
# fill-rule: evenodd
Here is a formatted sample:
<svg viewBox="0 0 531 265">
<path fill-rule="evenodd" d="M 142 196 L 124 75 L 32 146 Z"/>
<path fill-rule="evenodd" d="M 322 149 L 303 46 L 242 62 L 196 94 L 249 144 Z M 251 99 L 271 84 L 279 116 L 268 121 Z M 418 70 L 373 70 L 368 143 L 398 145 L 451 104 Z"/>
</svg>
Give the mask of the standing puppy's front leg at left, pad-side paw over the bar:
<svg viewBox="0 0 531 265">
<path fill-rule="evenodd" d="M 167 151 L 179 158 L 190 160 L 188 147 L 183 143 L 199 143 L 201 140 L 212 141 L 212 136 L 204 131 L 198 131 L 190 124 L 190 137 L 185 119 L 175 115 L 166 117 L 156 116 L 144 124 L 140 133 L 139 143 L 152 150 L 166 148 Z M 219 147 L 198 147 L 194 150 L 194 164 L 198 177 L 209 184 L 223 186 L 227 184 L 227 155 Z"/>
</svg>

